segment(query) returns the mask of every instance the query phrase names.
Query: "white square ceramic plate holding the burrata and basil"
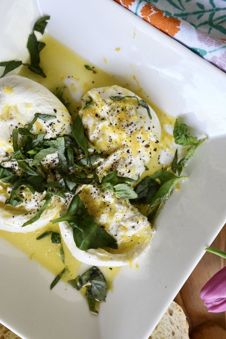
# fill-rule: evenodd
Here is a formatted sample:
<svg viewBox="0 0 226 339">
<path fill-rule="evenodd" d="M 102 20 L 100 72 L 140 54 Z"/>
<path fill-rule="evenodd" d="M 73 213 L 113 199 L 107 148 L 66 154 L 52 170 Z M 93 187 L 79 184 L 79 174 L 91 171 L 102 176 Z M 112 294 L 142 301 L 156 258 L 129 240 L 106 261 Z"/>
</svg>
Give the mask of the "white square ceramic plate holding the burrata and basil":
<svg viewBox="0 0 226 339">
<path fill-rule="evenodd" d="M 38 7 L 0 7 L 0 61 L 23 57 Z M 114 1 L 40 0 L 40 8 L 50 35 L 116 79 L 135 74 L 150 101 L 209 140 L 156 219 L 139 269 L 121 269 L 99 316 L 65 283 L 50 291 L 53 275 L 0 239 L 0 321 L 26 339 L 146 339 L 225 223 L 226 75 Z"/>
</svg>

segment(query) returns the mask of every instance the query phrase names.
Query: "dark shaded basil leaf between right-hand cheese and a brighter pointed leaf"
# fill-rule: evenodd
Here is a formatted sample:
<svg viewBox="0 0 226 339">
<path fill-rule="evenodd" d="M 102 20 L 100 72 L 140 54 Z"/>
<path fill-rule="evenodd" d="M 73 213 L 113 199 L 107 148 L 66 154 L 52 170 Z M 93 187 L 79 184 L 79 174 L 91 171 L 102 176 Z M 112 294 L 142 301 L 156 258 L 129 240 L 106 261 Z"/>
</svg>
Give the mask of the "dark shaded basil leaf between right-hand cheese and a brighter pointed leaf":
<svg viewBox="0 0 226 339">
<path fill-rule="evenodd" d="M 137 184 L 134 191 L 137 193 L 136 199 L 131 199 L 132 204 L 149 204 L 158 192 L 160 184 L 150 177 L 145 177 Z"/>
</svg>

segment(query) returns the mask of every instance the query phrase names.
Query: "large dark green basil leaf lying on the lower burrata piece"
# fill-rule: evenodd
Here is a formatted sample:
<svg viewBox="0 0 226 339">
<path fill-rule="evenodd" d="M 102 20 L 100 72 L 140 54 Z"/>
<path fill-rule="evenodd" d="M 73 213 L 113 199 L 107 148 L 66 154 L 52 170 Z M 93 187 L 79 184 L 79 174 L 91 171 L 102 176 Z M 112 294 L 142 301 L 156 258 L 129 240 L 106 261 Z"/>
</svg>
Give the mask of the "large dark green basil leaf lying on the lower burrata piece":
<svg viewBox="0 0 226 339">
<path fill-rule="evenodd" d="M 118 248 L 117 241 L 95 223 L 93 216 L 88 213 L 78 194 L 71 200 L 67 212 L 52 220 L 52 223 L 62 221 L 67 221 L 73 228 L 74 241 L 82 251 L 98 247 Z"/>
</svg>

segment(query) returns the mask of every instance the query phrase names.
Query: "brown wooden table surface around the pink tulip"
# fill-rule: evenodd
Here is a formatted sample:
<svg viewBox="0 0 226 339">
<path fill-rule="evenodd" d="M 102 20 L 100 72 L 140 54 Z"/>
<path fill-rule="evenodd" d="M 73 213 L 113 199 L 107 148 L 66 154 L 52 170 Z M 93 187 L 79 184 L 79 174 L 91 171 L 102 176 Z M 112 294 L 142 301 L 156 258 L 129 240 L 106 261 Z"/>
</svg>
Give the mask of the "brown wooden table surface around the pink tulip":
<svg viewBox="0 0 226 339">
<path fill-rule="evenodd" d="M 210 247 L 226 251 L 226 225 Z M 212 320 L 226 327 L 226 312 L 210 313 L 204 306 L 199 293 L 205 283 L 218 271 L 226 266 L 226 259 L 206 252 L 192 274 L 189 276 L 180 292 L 174 299 L 183 308 L 189 322 L 189 333 L 197 325 Z"/>
</svg>

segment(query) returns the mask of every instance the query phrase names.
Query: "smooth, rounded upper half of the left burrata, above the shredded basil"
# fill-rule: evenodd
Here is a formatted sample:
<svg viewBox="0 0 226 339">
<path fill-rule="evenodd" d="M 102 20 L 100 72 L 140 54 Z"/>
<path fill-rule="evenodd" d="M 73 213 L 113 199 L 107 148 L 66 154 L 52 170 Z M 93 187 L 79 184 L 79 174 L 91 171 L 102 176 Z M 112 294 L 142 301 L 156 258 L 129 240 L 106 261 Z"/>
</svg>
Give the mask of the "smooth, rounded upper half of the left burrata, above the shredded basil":
<svg viewBox="0 0 226 339">
<path fill-rule="evenodd" d="M 14 152 L 13 129 L 29 124 L 35 113 L 55 115 L 56 118 L 48 121 L 38 118 L 32 133 L 46 133 L 46 139 L 71 133 L 71 118 L 66 107 L 47 88 L 19 75 L 1 78 L 0 161 Z"/>
</svg>

